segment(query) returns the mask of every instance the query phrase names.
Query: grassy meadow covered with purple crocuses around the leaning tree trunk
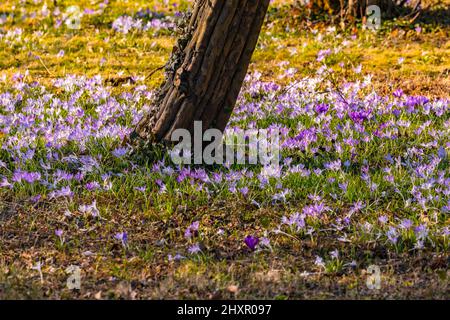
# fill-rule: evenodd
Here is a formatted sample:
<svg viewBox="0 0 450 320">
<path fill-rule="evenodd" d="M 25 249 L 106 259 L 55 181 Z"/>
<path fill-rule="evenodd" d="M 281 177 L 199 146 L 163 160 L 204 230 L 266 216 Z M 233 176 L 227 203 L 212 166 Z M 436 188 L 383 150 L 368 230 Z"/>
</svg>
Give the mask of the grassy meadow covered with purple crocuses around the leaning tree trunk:
<svg viewBox="0 0 450 320">
<path fill-rule="evenodd" d="M 228 129 L 280 130 L 277 172 L 122 143 L 189 2 L 0 4 L 0 299 L 448 298 L 448 1 L 377 32 L 273 1 Z"/>
</svg>

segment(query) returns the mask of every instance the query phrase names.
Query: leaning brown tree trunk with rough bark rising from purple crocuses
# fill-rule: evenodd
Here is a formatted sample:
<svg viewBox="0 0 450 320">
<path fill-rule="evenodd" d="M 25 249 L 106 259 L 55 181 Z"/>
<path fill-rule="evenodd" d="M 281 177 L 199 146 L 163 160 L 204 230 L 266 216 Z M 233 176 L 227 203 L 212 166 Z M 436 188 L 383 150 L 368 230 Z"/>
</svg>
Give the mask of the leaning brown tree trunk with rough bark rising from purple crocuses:
<svg viewBox="0 0 450 320">
<path fill-rule="evenodd" d="M 230 119 L 270 0 L 197 0 L 166 66 L 156 103 L 131 140 L 170 141 L 176 129 L 223 131 Z"/>
</svg>

